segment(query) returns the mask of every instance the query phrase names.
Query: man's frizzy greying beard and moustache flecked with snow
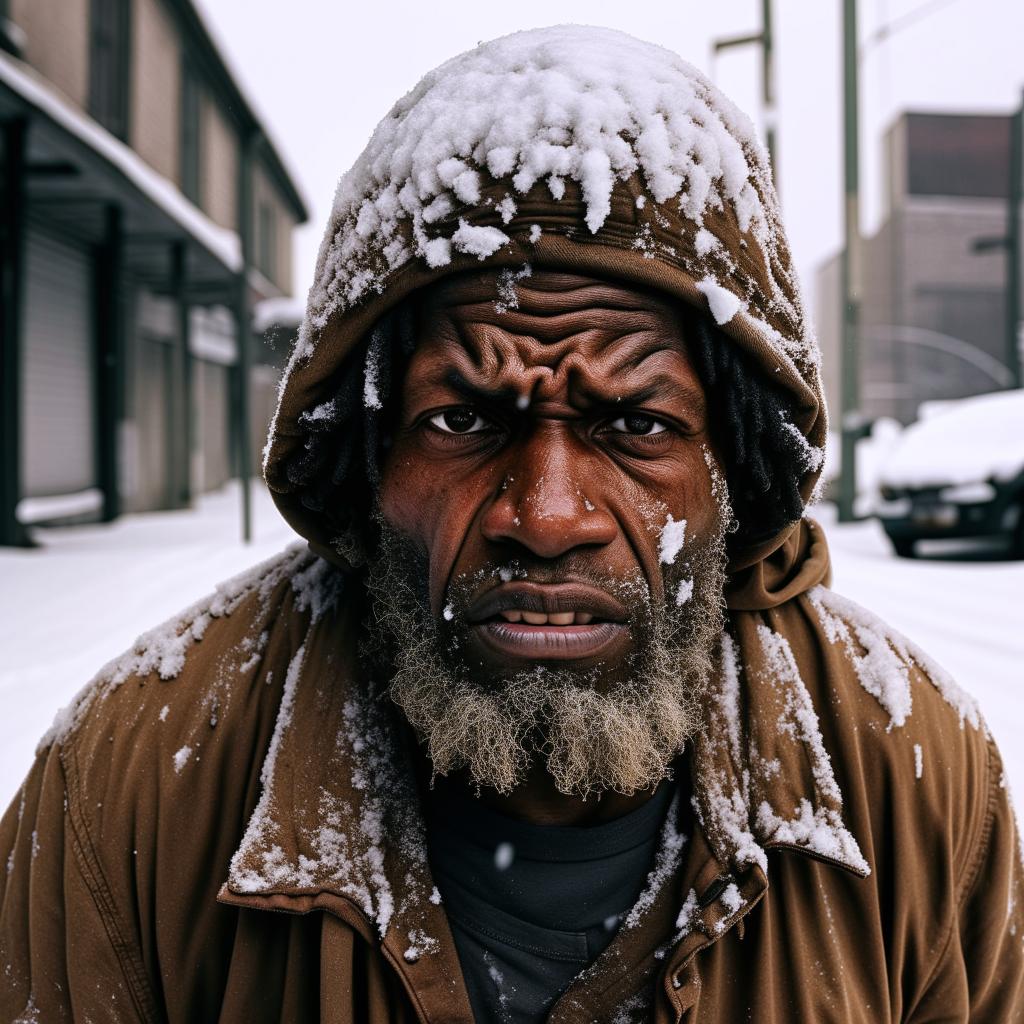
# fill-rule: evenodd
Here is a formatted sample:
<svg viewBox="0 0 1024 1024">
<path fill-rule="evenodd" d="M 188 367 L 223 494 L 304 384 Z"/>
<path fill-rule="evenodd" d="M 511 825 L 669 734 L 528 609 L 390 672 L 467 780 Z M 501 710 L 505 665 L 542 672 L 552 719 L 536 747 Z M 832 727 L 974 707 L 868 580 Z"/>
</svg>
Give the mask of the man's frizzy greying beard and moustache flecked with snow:
<svg viewBox="0 0 1024 1024">
<path fill-rule="evenodd" d="M 631 795 L 671 776 L 703 724 L 724 626 L 724 525 L 711 543 L 687 545 L 678 565 L 665 566 L 664 601 L 651 599 L 639 572 L 627 581 L 591 575 L 633 611 L 635 652 L 626 676 L 601 687 L 597 673 L 571 668 L 474 675 L 460 651 L 468 630 L 460 610 L 471 585 L 497 578 L 499 566 L 457 581 L 452 622 L 437 624 L 426 560 L 380 515 L 376 520 L 380 543 L 367 567 L 369 652 L 390 677 L 388 694 L 425 743 L 435 775 L 465 770 L 472 784 L 508 794 L 540 761 L 560 793 L 583 799 Z M 574 579 L 587 579 L 574 568 Z M 680 584 L 690 580 L 692 594 L 677 604 Z"/>
</svg>

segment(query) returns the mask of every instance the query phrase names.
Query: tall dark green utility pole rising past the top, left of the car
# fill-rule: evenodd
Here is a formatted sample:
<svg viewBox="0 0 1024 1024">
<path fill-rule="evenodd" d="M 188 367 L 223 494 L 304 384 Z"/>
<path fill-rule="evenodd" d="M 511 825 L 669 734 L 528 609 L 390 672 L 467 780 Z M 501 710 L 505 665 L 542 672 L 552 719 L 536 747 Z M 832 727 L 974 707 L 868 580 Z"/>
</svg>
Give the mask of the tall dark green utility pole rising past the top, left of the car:
<svg viewBox="0 0 1024 1024">
<path fill-rule="evenodd" d="M 843 462 L 839 480 L 840 522 L 856 518 L 857 440 L 860 413 L 860 119 L 857 93 L 857 0 L 843 0 L 843 357 L 840 429 Z"/>
</svg>

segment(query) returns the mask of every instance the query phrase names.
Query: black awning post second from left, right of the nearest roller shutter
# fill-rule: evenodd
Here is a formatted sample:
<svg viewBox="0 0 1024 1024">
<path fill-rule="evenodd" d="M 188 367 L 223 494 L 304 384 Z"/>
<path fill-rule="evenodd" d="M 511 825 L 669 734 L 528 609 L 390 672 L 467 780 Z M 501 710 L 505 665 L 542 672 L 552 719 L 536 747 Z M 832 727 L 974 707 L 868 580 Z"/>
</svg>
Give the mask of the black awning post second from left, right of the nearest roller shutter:
<svg viewBox="0 0 1024 1024">
<path fill-rule="evenodd" d="M 103 493 L 103 522 L 121 514 L 118 435 L 124 409 L 124 231 L 121 210 L 104 211 L 103 241 L 96 252 L 96 465 Z"/>
</svg>

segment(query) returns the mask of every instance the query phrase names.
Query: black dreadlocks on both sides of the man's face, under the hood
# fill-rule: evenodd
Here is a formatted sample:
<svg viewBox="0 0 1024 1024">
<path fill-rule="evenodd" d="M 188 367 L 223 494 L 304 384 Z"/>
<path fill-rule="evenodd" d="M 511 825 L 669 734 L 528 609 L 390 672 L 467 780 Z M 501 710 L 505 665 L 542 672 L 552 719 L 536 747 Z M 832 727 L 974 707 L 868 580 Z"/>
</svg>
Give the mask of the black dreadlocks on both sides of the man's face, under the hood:
<svg viewBox="0 0 1024 1024">
<path fill-rule="evenodd" d="M 800 483 L 817 468 L 821 453 L 795 425 L 788 393 L 708 313 L 686 306 L 681 316 L 729 490 L 729 545 L 759 543 L 801 517 Z M 353 564 L 364 560 L 382 455 L 397 414 L 394 399 L 416 347 L 417 317 L 415 299 L 407 299 L 380 318 L 342 366 L 334 397 L 300 418 L 305 442 L 287 467 L 302 504 L 328 517 L 333 543 Z"/>
</svg>

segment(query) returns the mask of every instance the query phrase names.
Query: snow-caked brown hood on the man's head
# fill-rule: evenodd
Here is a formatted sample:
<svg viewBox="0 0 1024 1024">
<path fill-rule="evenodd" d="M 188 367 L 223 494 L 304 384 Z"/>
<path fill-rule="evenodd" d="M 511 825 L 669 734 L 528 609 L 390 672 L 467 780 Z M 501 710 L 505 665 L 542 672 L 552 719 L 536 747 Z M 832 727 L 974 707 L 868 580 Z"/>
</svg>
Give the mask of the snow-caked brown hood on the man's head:
<svg viewBox="0 0 1024 1024">
<path fill-rule="evenodd" d="M 314 551 L 345 562 L 337 509 L 304 498 L 296 467 L 313 432 L 358 429 L 333 398 L 375 323 L 447 274 L 524 264 L 709 310 L 823 446 L 817 343 L 749 119 L 662 47 L 579 26 L 521 32 L 428 74 L 338 185 L 264 453 L 279 508 Z M 808 459 L 805 502 L 820 463 Z M 761 577 L 774 557 L 792 575 L 795 530 L 733 551 L 731 570 Z"/>
</svg>

